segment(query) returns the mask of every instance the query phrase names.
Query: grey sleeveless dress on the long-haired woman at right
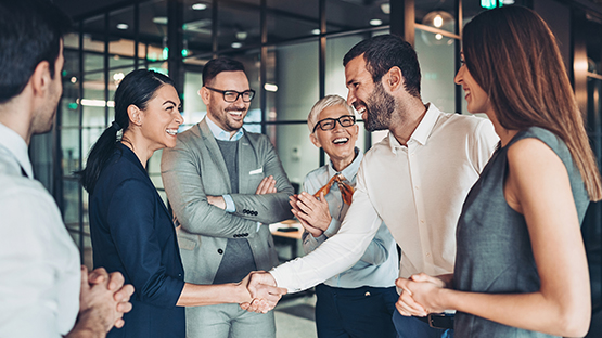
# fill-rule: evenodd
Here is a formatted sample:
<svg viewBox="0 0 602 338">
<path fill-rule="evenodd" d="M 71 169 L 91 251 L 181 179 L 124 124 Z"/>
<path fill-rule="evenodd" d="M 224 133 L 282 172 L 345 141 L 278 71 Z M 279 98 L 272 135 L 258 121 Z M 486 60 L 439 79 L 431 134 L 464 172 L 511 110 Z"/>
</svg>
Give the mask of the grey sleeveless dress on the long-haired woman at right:
<svg viewBox="0 0 602 338">
<path fill-rule="evenodd" d="M 552 132 L 537 127 L 518 132 L 507 146 L 494 153 L 462 207 L 456 233 L 458 249 L 453 274 L 458 290 L 487 294 L 526 294 L 539 290 L 539 275 L 525 218 L 510 208 L 503 196 L 508 148 L 526 138 L 543 141 L 562 159 L 571 180 L 579 223 L 584 220 L 589 198 L 565 143 Z M 552 336 L 458 312 L 454 337 Z"/>
</svg>

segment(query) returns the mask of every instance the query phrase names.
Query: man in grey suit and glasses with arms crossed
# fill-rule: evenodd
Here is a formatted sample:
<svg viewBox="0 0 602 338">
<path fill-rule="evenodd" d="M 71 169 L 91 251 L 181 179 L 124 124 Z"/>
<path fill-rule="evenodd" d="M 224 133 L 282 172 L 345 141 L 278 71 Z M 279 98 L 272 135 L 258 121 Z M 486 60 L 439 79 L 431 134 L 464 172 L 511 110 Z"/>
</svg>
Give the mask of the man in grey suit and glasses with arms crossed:
<svg viewBox="0 0 602 338">
<path fill-rule="evenodd" d="M 243 128 L 255 94 L 243 64 L 209 61 L 200 94 L 207 115 L 163 152 L 162 178 L 180 224 L 185 282 L 239 283 L 278 264 L 267 225 L 292 218 L 294 191 L 268 136 Z M 187 308 L 187 337 L 276 337 L 273 313 Z"/>
</svg>

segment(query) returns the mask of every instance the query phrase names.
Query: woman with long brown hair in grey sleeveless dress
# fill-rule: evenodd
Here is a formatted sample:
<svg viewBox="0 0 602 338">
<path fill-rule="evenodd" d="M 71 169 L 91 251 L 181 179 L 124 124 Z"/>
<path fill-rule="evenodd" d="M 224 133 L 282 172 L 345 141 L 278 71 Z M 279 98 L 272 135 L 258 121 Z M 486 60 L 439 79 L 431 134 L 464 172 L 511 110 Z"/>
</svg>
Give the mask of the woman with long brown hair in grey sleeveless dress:
<svg viewBox="0 0 602 338">
<path fill-rule="evenodd" d="M 398 310 L 458 310 L 456 337 L 584 336 L 580 224 L 602 188 L 554 36 L 528 9 L 496 9 L 464 27 L 463 57 L 456 82 L 501 146 L 464 203 L 453 275 L 398 280 Z"/>
</svg>

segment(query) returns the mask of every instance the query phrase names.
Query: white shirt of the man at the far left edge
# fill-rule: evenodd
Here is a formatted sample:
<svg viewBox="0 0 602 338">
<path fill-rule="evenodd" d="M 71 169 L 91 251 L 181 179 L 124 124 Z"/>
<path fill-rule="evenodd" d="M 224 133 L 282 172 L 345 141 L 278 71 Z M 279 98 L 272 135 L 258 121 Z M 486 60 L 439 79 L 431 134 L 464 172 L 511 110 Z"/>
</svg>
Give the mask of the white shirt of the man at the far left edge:
<svg viewBox="0 0 602 338">
<path fill-rule="evenodd" d="M 79 252 L 33 177 L 27 144 L 0 123 L 0 337 L 61 337 L 79 310 Z"/>
</svg>

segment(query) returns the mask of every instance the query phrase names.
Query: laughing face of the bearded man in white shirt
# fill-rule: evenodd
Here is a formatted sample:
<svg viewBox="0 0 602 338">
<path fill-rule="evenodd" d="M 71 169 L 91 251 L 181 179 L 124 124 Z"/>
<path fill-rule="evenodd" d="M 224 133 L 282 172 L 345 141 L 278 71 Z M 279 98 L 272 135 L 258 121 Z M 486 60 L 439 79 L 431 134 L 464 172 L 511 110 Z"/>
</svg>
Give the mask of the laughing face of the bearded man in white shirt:
<svg viewBox="0 0 602 338">
<path fill-rule="evenodd" d="M 345 80 L 349 90 L 347 103 L 361 114 L 366 130 L 389 129 L 395 112 L 395 99 L 385 91 L 381 82 L 374 83 L 366 67 L 363 55 L 347 63 Z"/>
</svg>

